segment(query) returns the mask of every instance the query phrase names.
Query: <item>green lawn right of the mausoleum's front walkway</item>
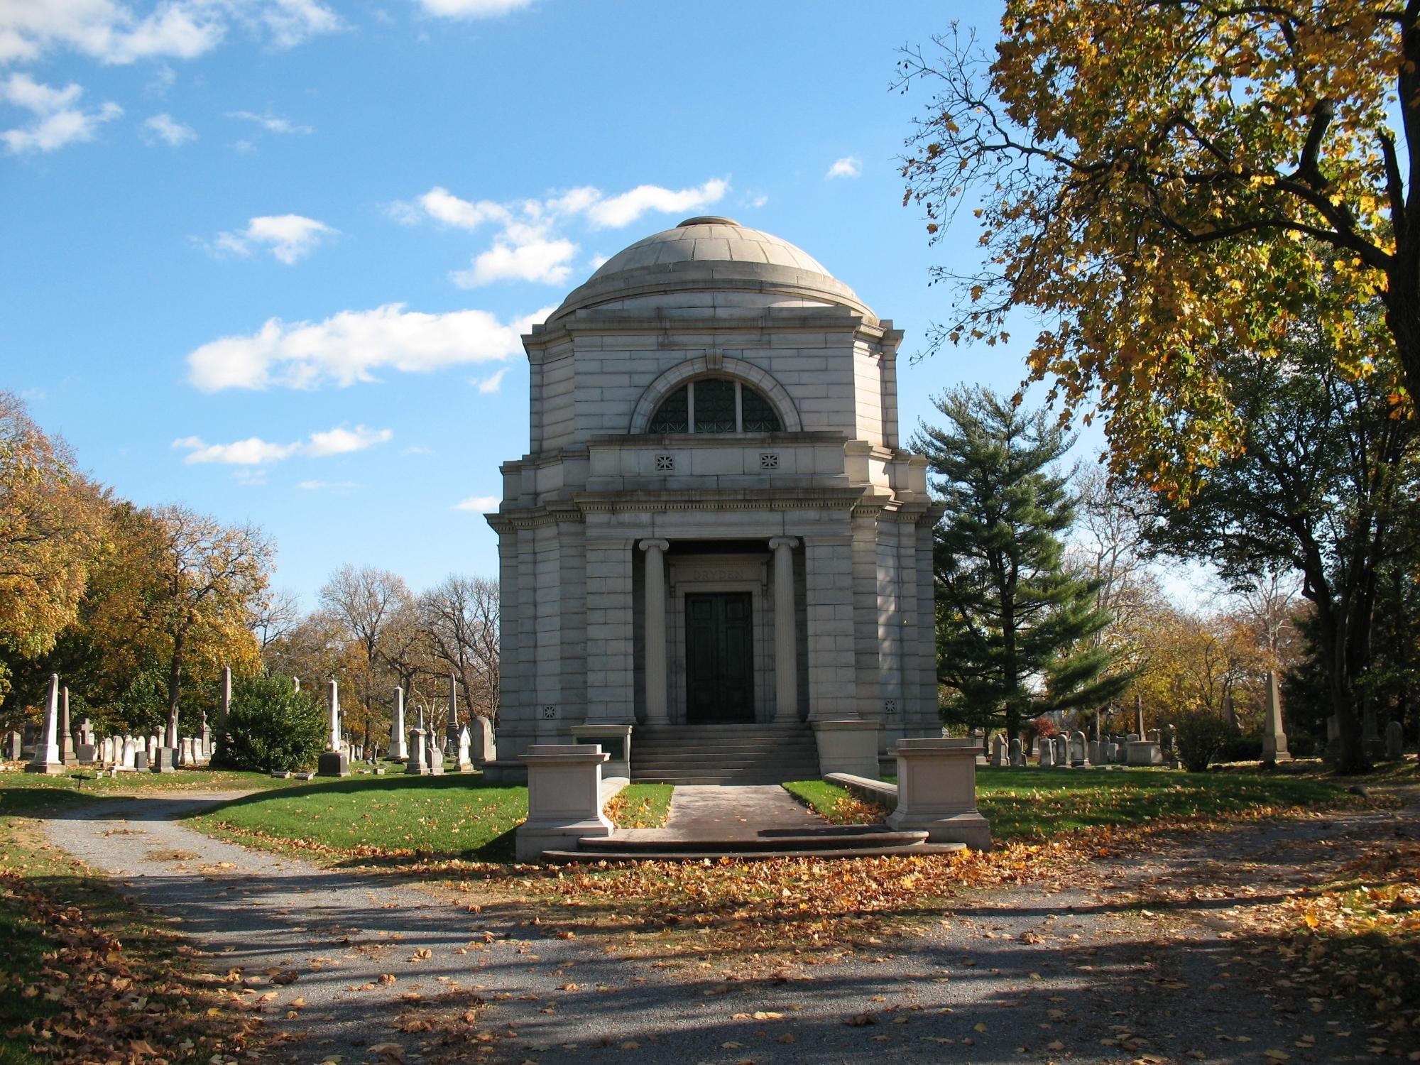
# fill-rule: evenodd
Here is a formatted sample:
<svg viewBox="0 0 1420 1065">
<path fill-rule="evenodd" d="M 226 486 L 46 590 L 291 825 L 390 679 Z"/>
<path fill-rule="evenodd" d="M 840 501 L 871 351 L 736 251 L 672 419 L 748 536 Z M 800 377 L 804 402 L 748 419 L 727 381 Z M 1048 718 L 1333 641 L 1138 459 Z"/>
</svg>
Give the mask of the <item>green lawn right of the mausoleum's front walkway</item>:
<svg viewBox="0 0 1420 1065">
<path fill-rule="evenodd" d="M 785 788 L 829 821 L 842 821 L 849 792 L 824 781 Z M 1041 838 L 1169 816 L 1213 816 L 1267 807 L 1323 805 L 1345 790 L 1319 777 L 1164 770 L 977 770 L 977 805 L 995 839 Z M 848 809 L 853 809 L 852 805 Z"/>
</svg>

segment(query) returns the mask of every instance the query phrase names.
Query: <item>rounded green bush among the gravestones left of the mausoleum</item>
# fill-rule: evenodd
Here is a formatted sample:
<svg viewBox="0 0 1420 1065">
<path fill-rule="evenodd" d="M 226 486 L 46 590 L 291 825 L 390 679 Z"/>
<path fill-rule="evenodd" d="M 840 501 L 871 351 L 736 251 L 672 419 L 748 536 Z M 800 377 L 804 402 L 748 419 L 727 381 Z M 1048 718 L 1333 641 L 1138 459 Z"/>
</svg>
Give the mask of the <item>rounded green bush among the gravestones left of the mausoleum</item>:
<svg viewBox="0 0 1420 1065">
<path fill-rule="evenodd" d="M 212 761 L 226 770 L 311 770 L 325 750 L 328 728 L 321 704 L 290 677 L 250 677 L 231 692 L 227 726 Z"/>
</svg>

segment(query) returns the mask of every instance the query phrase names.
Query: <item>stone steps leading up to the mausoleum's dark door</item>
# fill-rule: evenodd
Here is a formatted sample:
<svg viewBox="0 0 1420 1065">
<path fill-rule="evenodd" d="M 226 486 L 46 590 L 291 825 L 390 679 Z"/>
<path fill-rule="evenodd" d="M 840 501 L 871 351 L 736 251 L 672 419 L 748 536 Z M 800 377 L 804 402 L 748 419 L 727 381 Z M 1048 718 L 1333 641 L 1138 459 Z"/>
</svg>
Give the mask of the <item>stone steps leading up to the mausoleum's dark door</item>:
<svg viewBox="0 0 1420 1065">
<path fill-rule="evenodd" d="M 636 726 L 630 778 L 648 784 L 782 784 L 818 780 L 807 724 Z"/>
</svg>

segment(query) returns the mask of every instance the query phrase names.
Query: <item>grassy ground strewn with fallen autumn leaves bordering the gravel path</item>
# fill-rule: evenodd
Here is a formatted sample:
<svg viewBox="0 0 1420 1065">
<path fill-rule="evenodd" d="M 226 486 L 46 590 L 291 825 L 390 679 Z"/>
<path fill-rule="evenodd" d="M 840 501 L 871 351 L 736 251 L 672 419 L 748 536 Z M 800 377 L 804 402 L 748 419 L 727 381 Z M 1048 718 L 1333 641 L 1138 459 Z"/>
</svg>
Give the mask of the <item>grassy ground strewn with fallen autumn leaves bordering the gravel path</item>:
<svg viewBox="0 0 1420 1065">
<path fill-rule="evenodd" d="M 190 824 L 324 865 L 395 872 L 471 910 L 575 939 L 589 953 L 683 956 L 727 978 L 853 964 L 863 951 L 950 919 L 966 900 L 1015 885 L 1086 883 L 1105 861 L 1207 841 L 1218 865 L 1206 880 L 1116 885 L 1120 902 L 1180 926 L 1223 913 L 1240 943 L 1295 963 L 1298 995 L 1384 1017 L 1384 1047 L 1409 1052 L 1420 1022 L 1404 994 L 1420 978 L 1420 842 L 1389 829 L 1352 848 L 1306 849 L 1289 838 L 1269 861 L 1316 875 L 1271 895 L 1254 886 L 1252 855 L 1234 853 L 1228 839 L 1363 811 L 1392 824 L 1399 804 L 1414 799 L 1413 775 L 1409 765 L 1392 770 L 1359 797 L 1316 772 L 984 771 L 980 799 L 997 826 L 994 852 L 851 862 L 517 866 L 503 842 L 523 816 L 525 792 L 457 778 L 285 785 Z M 213 778 L 234 782 L 204 772 L 170 782 L 192 790 Z M 0 788 L 0 922 L 16 944 L 4 966 L 16 994 L 0 995 L 0 1061 L 224 1061 L 260 1047 L 271 1035 L 257 1018 L 264 993 L 240 980 L 212 983 L 210 960 L 190 967 L 173 930 L 135 922 L 112 886 L 88 879 L 30 831 L 37 811 L 94 801 L 64 784 L 14 777 Z M 853 819 L 880 815 L 845 794 L 811 791 L 816 804 Z M 657 824 L 667 802 L 669 788 L 648 788 L 623 795 L 615 814 L 622 824 Z M 408 816 L 381 814 L 396 805 Z M 361 843 L 348 834 L 351 818 Z"/>
</svg>

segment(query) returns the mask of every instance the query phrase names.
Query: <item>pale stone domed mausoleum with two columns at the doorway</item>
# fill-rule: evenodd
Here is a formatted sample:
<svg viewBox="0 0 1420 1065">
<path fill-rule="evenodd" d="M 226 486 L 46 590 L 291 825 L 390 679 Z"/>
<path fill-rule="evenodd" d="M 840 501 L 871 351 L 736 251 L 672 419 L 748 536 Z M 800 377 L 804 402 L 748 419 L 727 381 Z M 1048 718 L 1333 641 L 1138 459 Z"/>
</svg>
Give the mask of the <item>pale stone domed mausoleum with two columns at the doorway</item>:
<svg viewBox="0 0 1420 1065">
<path fill-rule="evenodd" d="M 635 778 L 746 782 L 940 736 L 900 339 L 724 217 L 636 241 L 523 338 L 531 442 L 488 515 L 501 758 L 582 740 Z"/>
</svg>

